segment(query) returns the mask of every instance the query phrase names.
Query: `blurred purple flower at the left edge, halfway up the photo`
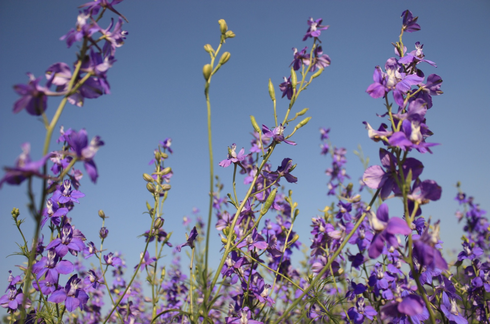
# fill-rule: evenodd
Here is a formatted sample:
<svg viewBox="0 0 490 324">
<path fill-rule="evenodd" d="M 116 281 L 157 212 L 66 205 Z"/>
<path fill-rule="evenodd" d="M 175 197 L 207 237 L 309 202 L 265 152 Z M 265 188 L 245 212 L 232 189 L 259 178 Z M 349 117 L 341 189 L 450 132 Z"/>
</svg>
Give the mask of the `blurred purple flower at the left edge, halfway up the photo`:
<svg viewBox="0 0 490 324">
<path fill-rule="evenodd" d="M 19 155 L 15 162 L 14 167 L 4 167 L 5 175 L 0 180 L 0 188 L 4 182 L 9 185 L 19 185 L 25 179 L 31 176 L 44 177 L 43 174 L 39 172 L 39 168 L 46 164 L 51 154 L 45 155 L 39 161 L 31 161 L 30 159 L 30 144 L 24 143 L 21 145 L 22 153 Z"/>
</svg>

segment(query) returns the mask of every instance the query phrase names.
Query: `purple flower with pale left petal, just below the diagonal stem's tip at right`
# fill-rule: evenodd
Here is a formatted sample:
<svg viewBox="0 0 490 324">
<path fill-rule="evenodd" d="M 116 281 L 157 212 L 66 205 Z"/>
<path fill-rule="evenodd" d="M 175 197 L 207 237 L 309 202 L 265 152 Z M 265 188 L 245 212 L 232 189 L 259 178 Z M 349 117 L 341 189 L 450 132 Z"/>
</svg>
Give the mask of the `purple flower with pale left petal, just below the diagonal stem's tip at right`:
<svg viewBox="0 0 490 324">
<path fill-rule="evenodd" d="M 383 252 L 385 242 L 389 246 L 398 247 L 398 240 L 395 234 L 408 235 L 412 232 L 405 220 L 398 217 L 389 218 L 388 205 L 386 204 L 379 206 L 376 211 L 376 217 L 374 217 L 372 212 L 369 212 L 368 216 L 371 227 L 376 231 L 368 250 L 368 255 L 372 259 L 377 258 Z"/>
</svg>

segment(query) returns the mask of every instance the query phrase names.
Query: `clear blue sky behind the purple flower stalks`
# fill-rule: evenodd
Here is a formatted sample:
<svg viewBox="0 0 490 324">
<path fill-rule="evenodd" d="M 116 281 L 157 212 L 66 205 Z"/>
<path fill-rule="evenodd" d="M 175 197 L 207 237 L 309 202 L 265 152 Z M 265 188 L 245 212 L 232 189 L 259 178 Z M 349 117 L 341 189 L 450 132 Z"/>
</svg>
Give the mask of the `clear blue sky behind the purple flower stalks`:
<svg viewBox="0 0 490 324">
<path fill-rule="evenodd" d="M 59 37 L 74 26 L 76 6 L 81 3 L 1 1 L 0 165 L 12 165 L 25 141 L 32 144 L 32 158 L 40 158 L 43 125 L 25 111 L 12 114 L 18 99 L 12 86 L 27 82 L 25 72 L 39 76 L 52 63 L 74 61 L 74 48 L 67 49 Z M 330 127 L 333 144 L 347 148 L 348 173 L 357 187 L 363 172 L 352 153 L 357 145 L 371 157 L 371 164 L 379 163 L 380 145 L 368 139 L 362 122 L 377 127 L 381 119 L 375 114 L 384 112 L 383 100 L 370 98 L 365 90 L 372 83 L 374 67 L 394 56 L 391 42 L 397 41 L 400 15 L 410 9 L 419 16 L 422 29 L 406 33 L 404 43 L 409 51 L 417 41 L 424 44 L 426 58 L 438 68 L 421 65 L 421 69 L 426 76 L 437 73 L 444 80 L 444 94 L 434 98 L 427 114 L 427 124 L 435 133 L 431 141 L 442 145 L 434 148 L 433 155 L 411 155 L 425 165 L 421 178 L 433 179 L 443 188 L 440 201 L 423 207 L 424 216 L 441 219 L 445 248 L 459 249 L 462 231 L 454 217 L 454 184 L 461 180 L 482 208 L 490 208 L 488 1 L 123 1 L 117 9 L 130 23 L 124 25 L 129 31 L 126 44 L 118 49 L 118 61 L 108 73 L 112 94 L 86 100 L 82 108 L 67 106 L 59 125 L 86 128 L 89 137 L 99 135 L 106 143 L 95 160 L 98 183 L 93 185 L 88 177 L 82 180 L 86 197 L 71 216 L 89 241 L 98 242 L 97 211 L 103 209 L 110 216 L 105 247 L 122 251 L 128 265 L 137 263 L 144 247 L 137 235 L 149 226 L 142 212 L 151 197 L 142 174 L 151 171 L 147 162 L 159 140 L 173 139 L 174 154 L 167 165 L 174 176 L 164 207 L 164 227 L 174 232 L 172 242 L 185 240 L 182 216 L 191 215 L 193 207 L 206 217 L 209 165 L 201 69 L 209 56 L 202 46 L 210 43 L 216 48 L 221 18 L 237 35 L 226 42 L 224 50 L 231 52 L 231 59 L 211 85 L 215 170 L 225 184 L 224 193 L 231 190 L 233 171 L 218 166 L 226 157 L 226 147 L 235 142 L 249 148 L 250 114 L 259 123 L 273 124 L 268 80 L 279 93 L 277 85 L 289 75 L 291 48 L 311 46 L 301 41 L 307 19 L 323 18 L 330 29 L 322 32 L 321 40 L 332 65 L 296 102 L 296 111 L 309 107 L 307 116 L 312 116 L 307 127 L 294 135 L 298 145 L 281 145 L 271 159 L 274 167 L 285 157 L 298 163 L 294 170 L 298 183 L 286 189 L 294 190 L 301 211 L 295 227 L 300 240 L 309 245 L 311 217 L 332 201 L 326 196 L 328 178 L 323 173 L 331 160 L 319 154 L 318 129 Z M 57 103 L 49 100 L 49 117 Z M 278 100 L 279 116 L 284 116 L 287 104 L 286 99 Z M 55 148 L 53 144 L 51 149 Z M 239 176 L 237 182 L 242 181 Z M 238 191 L 243 195 L 245 187 L 239 185 Z M 21 240 L 11 225 L 13 207 L 28 219 L 26 233 L 32 232 L 25 193 L 25 184 L 4 185 L 0 190 L 0 279 L 23 262 L 17 256 L 3 260 Z M 390 206 L 392 215 L 401 216 L 399 204 Z M 218 251 L 219 246 L 213 231 L 211 248 Z M 216 264 L 219 254 L 212 258 L 211 264 Z"/>
</svg>

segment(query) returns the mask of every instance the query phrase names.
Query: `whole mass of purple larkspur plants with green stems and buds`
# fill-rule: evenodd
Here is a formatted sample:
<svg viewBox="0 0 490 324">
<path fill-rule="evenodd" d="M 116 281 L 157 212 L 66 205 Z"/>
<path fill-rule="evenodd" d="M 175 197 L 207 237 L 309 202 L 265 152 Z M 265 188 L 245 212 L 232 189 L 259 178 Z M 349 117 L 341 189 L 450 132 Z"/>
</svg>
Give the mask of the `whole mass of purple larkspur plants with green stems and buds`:
<svg viewBox="0 0 490 324">
<path fill-rule="evenodd" d="M 332 145 L 330 129 L 320 128 L 320 154 L 330 154 L 332 158 L 325 171 L 327 196 L 334 197 L 335 202 L 311 218 L 310 238 L 300 241 L 294 231 L 300 212 L 293 190 L 286 189 L 298 182 L 294 176 L 296 164 L 288 157 L 271 157 L 277 145 L 288 144 L 292 148 L 297 144 L 291 138 L 311 117 L 292 127 L 308 111 L 305 108 L 290 116 L 294 103 L 331 64 L 319 39 L 328 26 L 321 19 L 312 18 L 307 21 L 303 37 L 303 41 L 313 41 L 311 49 L 293 48 L 290 76 L 279 84 L 282 97 L 289 100 L 287 108 L 279 111 L 284 112 L 282 121 L 278 119 L 275 88 L 269 80 L 273 120 L 259 126 L 250 116 L 254 132 L 247 153 L 244 147 L 237 153 L 240 146 L 233 143 L 227 148 L 226 158 L 216 163 L 233 166 L 231 192 L 226 195 L 224 185 L 213 173 L 209 87 L 212 76 L 231 56 L 224 52 L 217 60 L 221 47 L 235 34 L 220 20 L 219 46 L 216 50 L 209 44 L 204 46 L 210 55 L 210 63 L 203 67 L 211 162 L 207 221 L 196 216 L 196 225 L 192 226 L 191 219 L 184 217 L 188 233 L 185 241 L 183 233 L 178 234 L 180 244 L 175 247 L 170 242 L 172 233 L 163 229 L 162 208 L 169 197 L 173 175 L 172 168 L 166 166 L 169 154 L 173 154 L 172 139 L 167 138 L 152 154 L 149 165 L 153 170 L 143 174 L 151 196 L 145 210 L 149 227 L 141 235 L 144 249 L 132 274 L 126 274 L 123 255 L 103 248 L 110 236 L 105 226 L 108 217 L 102 210 L 98 213 L 102 219 L 100 245 L 96 246 L 95 239 L 88 242 L 75 229 L 70 214 L 85 197 L 79 191 L 83 174 L 75 166 L 83 162 L 95 183 L 98 171 L 94 158 L 104 142 L 97 136 L 89 141 L 85 129 L 65 130 L 62 126 L 57 139 L 61 148 L 49 151 L 49 143 L 67 102 L 81 106 L 85 98 L 109 93 L 107 71 L 127 35 L 122 29 L 126 19 L 114 8 L 119 2 L 96 0 L 80 6 L 76 28 L 61 38 L 68 47 L 81 43 L 73 69 L 68 64 L 55 63 L 46 70 L 45 86 L 40 86 L 41 77 L 36 79 L 31 74 L 27 85 L 14 86 L 21 95 L 14 104 L 14 113 L 25 109 L 30 115 L 42 116 L 47 132 L 43 157 L 31 161 L 30 145 L 23 144 L 15 166 L 6 167 L 0 180 L 0 186 L 28 182 L 29 212 L 35 222 L 30 241 L 23 232 L 20 210 L 13 208 L 14 224 L 24 242 L 17 254 L 24 255 L 27 264 L 19 267 L 20 275 L 9 273 L 6 294 L 0 297 L 0 305 L 7 310 L 6 321 L 490 323 L 490 223 L 486 211 L 467 197 L 458 184 L 460 191 L 455 199 L 463 210 L 457 211 L 456 216 L 464 222 L 465 235 L 454 262 L 441 253 L 439 221 L 426 220 L 422 215 L 422 205 L 440 199 L 441 187 L 434 180 L 420 178 L 424 165 L 409 154 L 432 153 L 431 148 L 438 145 L 426 142 L 433 135 L 426 115 L 433 107 L 432 97 L 442 93 L 442 79 L 434 73 L 425 79 L 419 67 L 437 66 L 425 59 L 423 45 L 417 42 L 415 49 L 407 52 L 402 42 L 405 32 L 420 30 L 418 18 L 408 10 L 402 13 L 399 40 L 393 43 L 395 57 L 386 61 L 384 71 L 379 66 L 374 69 L 374 82 L 366 91 L 373 98 L 384 98 L 386 113 L 382 117 L 387 117 L 387 122 L 378 128 L 364 122 L 368 137 L 382 144 L 381 165 L 366 165 L 361 187 L 356 191 L 348 182 L 347 150 Z M 103 29 L 99 21 L 107 11 L 116 14 L 118 22 L 111 20 Z M 46 115 L 49 96 L 62 98 L 51 120 Z M 237 170 L 248 186 L 243 199 L 237 196 Z M 42 180 L 40 208 L 36 208 L 34 200 L 34 178 Z M 365 187 L 371 193 L 370 201 L 361 196 Z M 397 216 L 390 216 L 385 202 L 392 198 L 401 202 L 402 211 Z M 216 269 L 208 265 L 212 224 L 222 242 Z M 154 254 L 150 244 L 151 251 L 155 248 Z M 169 252 L 172 263 L 161 264 Z M 180 259 L 183 252 L 188 252 L 191 264 L 185 271 Z M 294 252 L 305 255 L 299 264 L 293 262 Z M 96 259 L 98 264 L 87 267 L 86 259 Z M 147 284 L 139 280 L 140 274 Z M 65 280 L 63 275 L 69 278 Z"/>
</svg>

